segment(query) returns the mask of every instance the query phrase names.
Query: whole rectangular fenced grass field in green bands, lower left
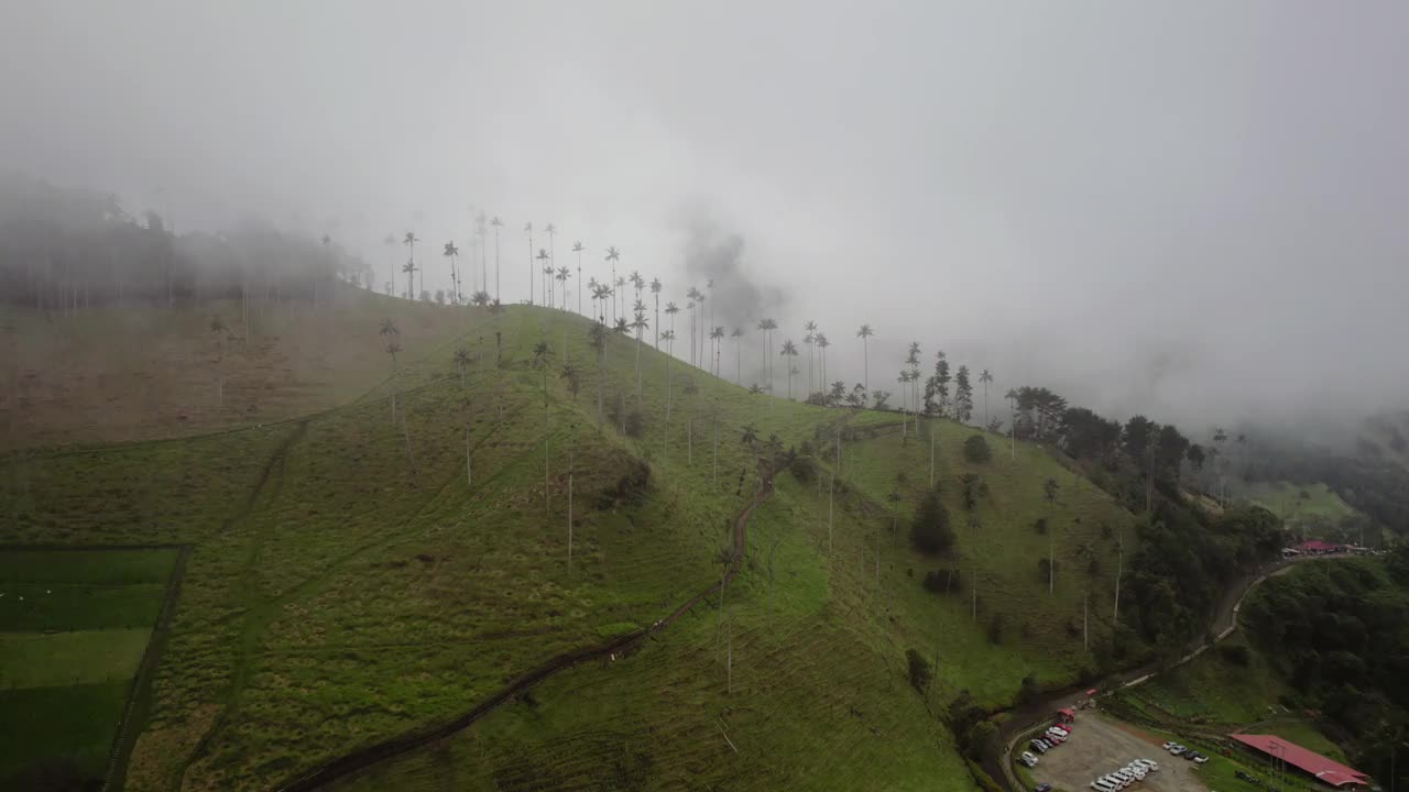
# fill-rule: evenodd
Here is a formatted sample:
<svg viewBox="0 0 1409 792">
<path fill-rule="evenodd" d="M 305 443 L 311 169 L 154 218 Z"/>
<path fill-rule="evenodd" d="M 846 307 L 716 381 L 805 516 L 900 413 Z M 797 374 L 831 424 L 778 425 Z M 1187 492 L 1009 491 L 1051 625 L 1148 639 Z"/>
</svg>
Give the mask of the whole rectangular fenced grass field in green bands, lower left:
<svg viewBox="0 0 1409 792">
<path fill-rule="evenodd" d="M 0 550 L 0 786 L 101 779 L 176 550 Z"/>
</svg>

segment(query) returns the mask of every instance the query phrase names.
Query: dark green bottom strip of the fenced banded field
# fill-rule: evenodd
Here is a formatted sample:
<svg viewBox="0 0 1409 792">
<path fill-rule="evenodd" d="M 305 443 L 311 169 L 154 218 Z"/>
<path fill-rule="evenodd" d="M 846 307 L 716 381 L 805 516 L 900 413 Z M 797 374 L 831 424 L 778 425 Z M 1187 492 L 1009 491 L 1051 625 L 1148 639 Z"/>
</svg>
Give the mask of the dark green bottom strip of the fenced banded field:
<svg viewBox="0 0 1409 792">
<path fill-rule="evenodd" d="M 101 779 L 125 702 L 125 681 L 0 691 L 0 788 L 30 788 L 39 768 Z"/>
</svg>

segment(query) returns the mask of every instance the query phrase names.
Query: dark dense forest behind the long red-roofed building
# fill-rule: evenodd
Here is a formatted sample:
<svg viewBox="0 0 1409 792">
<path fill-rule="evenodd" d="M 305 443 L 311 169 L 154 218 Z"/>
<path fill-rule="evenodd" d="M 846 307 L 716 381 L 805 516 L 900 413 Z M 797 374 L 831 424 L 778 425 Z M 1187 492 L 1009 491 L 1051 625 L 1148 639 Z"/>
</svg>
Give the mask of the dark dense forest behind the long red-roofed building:
<svg viewBox="0 0 1409 792">
<path fill-rule="evenodd" d="M 1243 609 L 1250 637 L 1295 691 L 1282 702 L 1317 724 L 1351 764 L 1409 789 L 1409 548 L 1385 559 L 1310 564 L 1268 579 Z"/>
</svg>

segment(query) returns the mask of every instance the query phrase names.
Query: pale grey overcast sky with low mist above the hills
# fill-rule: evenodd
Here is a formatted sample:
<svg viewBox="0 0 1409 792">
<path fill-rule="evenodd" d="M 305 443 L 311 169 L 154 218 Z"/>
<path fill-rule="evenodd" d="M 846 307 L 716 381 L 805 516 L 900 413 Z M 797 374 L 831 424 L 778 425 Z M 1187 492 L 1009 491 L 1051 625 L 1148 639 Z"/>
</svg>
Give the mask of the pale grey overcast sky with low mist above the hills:
<svg viewBox="0 0 1409 792">
<path fill-rule="evenodd" d="M 713 228 L 850 380 L 869 321 L 879 382 L 913 338 L 1198 431 L 1409 406 L 1405 75 L 1394 1 L 32 0 L 0 166 L 328 231 L 379 283 L 387 233 L 469 247 L 485 209 L 506 302 L 526 221 L 676 299 Z"/>
</svg>

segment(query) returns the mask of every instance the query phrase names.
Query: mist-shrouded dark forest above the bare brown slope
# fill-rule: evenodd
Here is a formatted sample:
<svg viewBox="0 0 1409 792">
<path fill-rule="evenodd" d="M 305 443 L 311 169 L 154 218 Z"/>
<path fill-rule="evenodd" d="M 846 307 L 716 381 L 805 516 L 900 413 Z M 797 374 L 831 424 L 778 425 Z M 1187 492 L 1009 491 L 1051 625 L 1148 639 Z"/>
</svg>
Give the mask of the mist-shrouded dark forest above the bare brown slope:
<svg viewBox="0 0 1409 792">
<path fill-rule="evenodd" d="M 175 234 L 116 196 L 0 172 L 0 299 L 46 313 L 190 299 L 318 299 L 368 265 L 334 240 L 249 220 L 221 234 Z"/>
</svg>

